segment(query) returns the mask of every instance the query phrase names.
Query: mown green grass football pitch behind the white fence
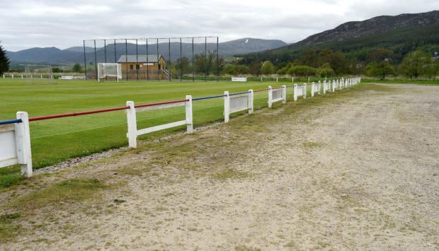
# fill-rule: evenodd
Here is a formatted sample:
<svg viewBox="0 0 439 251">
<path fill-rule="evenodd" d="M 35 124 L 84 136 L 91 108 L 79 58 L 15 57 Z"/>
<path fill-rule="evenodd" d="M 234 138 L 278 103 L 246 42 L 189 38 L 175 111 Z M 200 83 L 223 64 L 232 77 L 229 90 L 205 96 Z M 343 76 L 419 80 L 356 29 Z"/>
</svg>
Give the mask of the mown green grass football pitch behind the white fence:
<svg viewBox="0 0 439 251">
<path fill-rule="evenodd" d="M 267 82 L 180 82 L 180 81 L 60 81 L 57 84 L 29 85 L 21 79 L 0 79 L 0 120 L 15 119 L 16 112 L 28 112 L 29 117 L 81 112 L 109 107 L 125 106 L 127 100 L 135 104 L 180 100 L 186 95 L 193 98 L 247 91 L 250 88 L 281 86 Z M 310 89 L 310 86 L 309 86 Z M 292 100 L 292 88 L 287 88 Z M 267 106 L 267 91 L 255 93 L 254 107 Z M 195 127 L 220 121 L 223 117 L 223 100 L 194 101 Z M 236 116 L 236 115 L 235 115 Z M 142 129 L 184 119 L 184 107 L 137 113 L 137 128 Z M 140 139 L 154 139 L 185 127 L 147 134 Z M 95 115 L 66 117 L 30 122 L 30 136 L 34 168 L 58 163 L 68 158 L 86 156 L 110 148 L 127 146 L 127 120 L 124 111 Z M 5 170 L 1 170 L 4 173 Z"/>
</svg>

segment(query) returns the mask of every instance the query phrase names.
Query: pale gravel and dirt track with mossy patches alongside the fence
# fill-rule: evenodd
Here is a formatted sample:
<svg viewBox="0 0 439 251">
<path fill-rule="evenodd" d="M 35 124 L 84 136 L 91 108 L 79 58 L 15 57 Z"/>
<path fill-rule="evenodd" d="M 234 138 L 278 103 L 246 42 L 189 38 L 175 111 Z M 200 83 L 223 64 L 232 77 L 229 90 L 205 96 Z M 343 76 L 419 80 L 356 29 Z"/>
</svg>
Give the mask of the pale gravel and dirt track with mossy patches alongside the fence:
<svg viewBox="0 0 439 251">
<path fill-rule="evenodd" d="M 308 98 L 40 177 L 114 186 L 41 209 L 54 219 L 23 219 L 33 234 L 4 247 L 438 250 L 438 97 L 392 85 Z"/>
</svg>

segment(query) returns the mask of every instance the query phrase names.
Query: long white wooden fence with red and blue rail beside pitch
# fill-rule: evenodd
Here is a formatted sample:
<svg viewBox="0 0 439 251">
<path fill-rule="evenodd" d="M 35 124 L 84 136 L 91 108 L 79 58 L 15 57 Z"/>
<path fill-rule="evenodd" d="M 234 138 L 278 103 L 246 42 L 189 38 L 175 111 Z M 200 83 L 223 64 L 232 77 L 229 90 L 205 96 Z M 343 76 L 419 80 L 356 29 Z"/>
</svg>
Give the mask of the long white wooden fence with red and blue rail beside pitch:
<svg viewBox="0 0 439 251">
<path fill-rule="evenodd" d="M 348 78 L 332 81 L 332 91 L 335 91 L 341 86 L 353 86 L 361 83 L 361 78 Z M 323 91 L 331 90 L 331 81 L 324 81 Z M 273 103 L 282 100 L 286 103 L 287 90 L 286 86 L 282 88 L 268 87 L 268 107 L 271 107 Z M 263 91 L 263 90 L 260 90 Z M 318 84 L 312 83 L 312 95 L 321 91 L 321 82 Z M 197 98 L 196 100 L 206 98 L 219 98 L 220 96 L 212 96 L 205 98 Z M 294 85 L 294 100 L 302 96 L 307 98 L 307 83 L 302 86 Z M 178 127 L 186 124 L 186 131 L 190 134 L 193 132 L 193 110 L 192 110 L 192 96 L 186 95 L 186 100 L 175 100 L 164 103 L 154 103 L 147 105 L 135 105 L 132 101 L 127 101 L 127 107 L 118 107 L 116 110 L 125 110 L 127 113 L 127 138 L 130 147 L 137 147 L 137 136 L 142 134 L 148 134 L 159 130 L 169 129 L 172 127 Z M 157 110 L 166 109 L 169 107 L 186 106 L 186 119 L 172 122 L 169 124 L 161 124 L 155 127 L 148 127 L 145 129 L 137 129 L 136 113 L 145 110 Z M 115 110 L 115 109 L 110 109 Z M 249 110 L 249 113 L 253 113 L 253 90 L 249 90 L 243 93 L 232 93 L 228 91 L 224 92 L 224 122 L 229 122 L 229 115 L 234 112 L 243 110 Z M 87 113 L 90 114 L 90 113 Z M 51 117 L 51 116 L 48 116 Z M 29 132 L 29 118 L 27 112 L 17 112 L 17 119 L 11 121 L 0 122 L 0 168 L 4 168 L 10 165 L 21 165 L 21 173 L 25 177 L 33 175 L 32 170 L 32 154 L 30 150 L 30 132 Z M 31 118 L 30 120 L 37 120 Z"/>
</svg>

